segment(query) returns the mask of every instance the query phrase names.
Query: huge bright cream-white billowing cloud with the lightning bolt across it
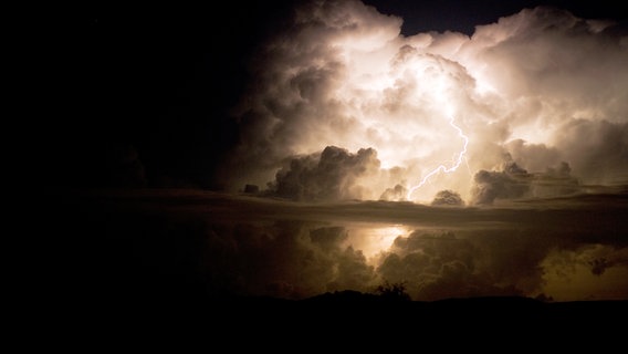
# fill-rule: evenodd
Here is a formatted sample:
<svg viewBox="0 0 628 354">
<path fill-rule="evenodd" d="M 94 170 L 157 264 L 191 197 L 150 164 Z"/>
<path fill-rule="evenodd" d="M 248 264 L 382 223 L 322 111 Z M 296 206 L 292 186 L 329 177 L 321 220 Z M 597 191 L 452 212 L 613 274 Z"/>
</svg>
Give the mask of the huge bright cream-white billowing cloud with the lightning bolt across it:
<svg viewBox="0 0 628 354">
<path fill-rule="evenodd" d="M 287 177 L 285 160 L 306 165 L 327 146 L 370 148 L 380 162 L 360 192 L 339 198 L 527 195 L 501 170 L 505 154 L 531 175 L 566 163 L 583 185 L 626 181 L 628 40 L 613 22 L 540 7 L 471 37 L 405 37 L 400 18 L 355 0 L 306 2 L 287 23 L 261 45 L 233 111 L 233 190 Z"/>
</svg>

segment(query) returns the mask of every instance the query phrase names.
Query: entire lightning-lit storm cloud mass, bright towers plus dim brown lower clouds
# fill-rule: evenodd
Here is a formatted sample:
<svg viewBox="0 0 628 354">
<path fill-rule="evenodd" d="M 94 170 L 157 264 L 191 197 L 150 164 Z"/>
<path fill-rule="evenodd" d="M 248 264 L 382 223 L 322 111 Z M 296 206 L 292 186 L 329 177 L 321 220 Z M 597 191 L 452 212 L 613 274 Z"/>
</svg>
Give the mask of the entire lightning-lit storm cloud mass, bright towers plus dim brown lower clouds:
<svg viewBox="0 0 628 354">
<path fill-rule="evenodd" d="M 550 7 L 401 23 L 307 1 L 260 46 L 224 171 L 266 188 L 207 219 L 224 291 L 627 298 L 625 29 Z"/>
</svg>

